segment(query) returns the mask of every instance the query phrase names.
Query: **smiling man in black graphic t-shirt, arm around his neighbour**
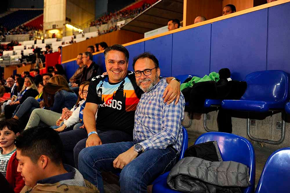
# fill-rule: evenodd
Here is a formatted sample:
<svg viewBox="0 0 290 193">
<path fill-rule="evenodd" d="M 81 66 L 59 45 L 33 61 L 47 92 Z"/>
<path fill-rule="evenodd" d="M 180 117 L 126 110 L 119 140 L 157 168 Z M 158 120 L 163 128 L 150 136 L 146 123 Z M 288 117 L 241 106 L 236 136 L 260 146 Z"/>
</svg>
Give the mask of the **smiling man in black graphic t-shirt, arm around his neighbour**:
<svg viewBox="0 0 290 193">
<path fill-rule="evenodd" d="M 86 129 L 59 134 L 64 145 L 63 161 L 75 167 L 79 152 L 85 147 L 133 140 L 135 110 L 143 91 L 136 84 L 135 74 L 128 71 L 129 52 L 124 46 L 110 46 L 104 55 L 108 74 L 90 82 L 84 109 Z M 164 102 L 171 103 L 176 98 L 176 104 L 180 83 L 171 82 L 172 79 L 166 78 L 170 86 L 164 92 Z"/>
</svg>

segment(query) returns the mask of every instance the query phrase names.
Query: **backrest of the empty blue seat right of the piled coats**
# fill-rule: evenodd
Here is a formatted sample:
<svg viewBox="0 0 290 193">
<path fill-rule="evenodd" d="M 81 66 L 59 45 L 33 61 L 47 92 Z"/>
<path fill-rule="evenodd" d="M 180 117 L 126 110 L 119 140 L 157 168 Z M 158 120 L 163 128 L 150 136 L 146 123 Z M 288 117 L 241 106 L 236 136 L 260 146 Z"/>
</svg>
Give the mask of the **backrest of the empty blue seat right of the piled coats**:
<svg viewBox="0 0 290 193">
<path fill-rule="evenodd" d="M 247 89 L 241 100 L 286 102 L 289 98 L 289 76 L 280 70 L 257 71 L 244 81 Z"/>
</svg>

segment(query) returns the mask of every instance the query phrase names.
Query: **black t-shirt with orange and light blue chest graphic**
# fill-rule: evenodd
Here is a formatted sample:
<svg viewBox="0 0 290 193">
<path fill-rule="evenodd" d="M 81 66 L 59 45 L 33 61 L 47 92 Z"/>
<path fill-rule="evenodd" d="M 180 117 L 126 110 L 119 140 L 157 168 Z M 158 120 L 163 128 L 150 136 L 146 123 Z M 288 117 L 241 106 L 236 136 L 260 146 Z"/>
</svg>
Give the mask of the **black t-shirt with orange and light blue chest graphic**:
<svg viewBox="0 0 290 193">
<path fill-rule="evenodd" d="M 93 78 L 86 102 L 99 105 L 97 130 L 118 130 L 133 134 L 135 110 L 142 93 L 131 71 L 128 71 L 124 80 L 117 83 L 109 83 L 108 75 Z"/>
</svg>

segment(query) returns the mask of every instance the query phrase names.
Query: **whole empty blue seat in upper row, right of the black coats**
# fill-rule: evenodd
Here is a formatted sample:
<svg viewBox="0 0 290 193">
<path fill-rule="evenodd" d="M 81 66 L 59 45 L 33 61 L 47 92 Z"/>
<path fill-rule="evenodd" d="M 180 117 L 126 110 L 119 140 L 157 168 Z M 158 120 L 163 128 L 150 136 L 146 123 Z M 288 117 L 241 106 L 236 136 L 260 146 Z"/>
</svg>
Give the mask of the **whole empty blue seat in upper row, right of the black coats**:
<svg viewBox="0 0 290 193">
<path fill-rule="evenodd" d="M 284 109 L 289 99 L 289 76 L 280 70 L 248 74 L 247 89 L 240 100 L 222 100 L 222 108 L 246 112 L 267 112 Z"/>
</svg>

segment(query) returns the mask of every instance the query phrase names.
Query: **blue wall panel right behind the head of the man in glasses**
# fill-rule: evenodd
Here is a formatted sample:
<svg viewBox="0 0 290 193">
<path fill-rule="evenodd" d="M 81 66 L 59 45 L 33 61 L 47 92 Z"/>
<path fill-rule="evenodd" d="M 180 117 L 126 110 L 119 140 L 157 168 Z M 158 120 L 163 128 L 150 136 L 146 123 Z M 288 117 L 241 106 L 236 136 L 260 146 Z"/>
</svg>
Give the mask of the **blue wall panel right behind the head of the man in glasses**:
<svg viewBox="0 0 290 193">
<path fill-rule="evenodd" d="M 146 41 L 145 52 L 156 56 L 163 77 L 171 76 L 172 34 Z"/>
</svg>

